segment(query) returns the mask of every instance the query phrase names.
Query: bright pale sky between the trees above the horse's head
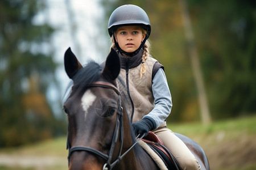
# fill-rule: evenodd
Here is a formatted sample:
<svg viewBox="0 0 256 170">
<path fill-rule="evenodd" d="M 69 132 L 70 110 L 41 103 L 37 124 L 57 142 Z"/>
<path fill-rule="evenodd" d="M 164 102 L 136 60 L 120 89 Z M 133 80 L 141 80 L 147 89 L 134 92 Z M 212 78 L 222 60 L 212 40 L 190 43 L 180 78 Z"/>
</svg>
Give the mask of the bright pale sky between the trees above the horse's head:
<svg viewBox="0 0 256 170">
<path fill-rule="evenodd" d="M 54 60 L 60 64 L 56 77 L 61 89 L 52 84 L 47 92 L 47 99 L 53 103 L 53 111 L 59 111 L 59 92 L 63 96 L 70 83 L 64 70 L 65 50 L 71 47 L 82 65 L 89 59 L 101 63 L 109 53 L 110 39 L 106 35 L 107 28 L 104 28 L 107 25 L 102 24 L 104 9 L 100 0 L 47 0 L 47 3 L 47 9 L 38 14 L 35 23 L 48 22 L 57 29 L 51 45 L 55 49 Z"/>
</svg>

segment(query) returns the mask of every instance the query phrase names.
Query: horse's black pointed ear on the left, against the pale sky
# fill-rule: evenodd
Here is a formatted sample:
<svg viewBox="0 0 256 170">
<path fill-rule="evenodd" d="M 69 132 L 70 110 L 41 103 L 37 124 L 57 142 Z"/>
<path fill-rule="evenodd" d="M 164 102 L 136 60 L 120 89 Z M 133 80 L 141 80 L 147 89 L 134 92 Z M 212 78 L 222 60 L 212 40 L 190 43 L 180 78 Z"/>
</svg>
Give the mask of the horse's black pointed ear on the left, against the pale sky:
<svg viewBox="0 0 256 170">
<path fill-rule="evenodd" d="M 77 71 L 82 68 L 81 63 L 77 60 L 70 47 L 66 50 L 64 55 L 64 66 L 68 77 L 71 79 Z"/>
</svg>

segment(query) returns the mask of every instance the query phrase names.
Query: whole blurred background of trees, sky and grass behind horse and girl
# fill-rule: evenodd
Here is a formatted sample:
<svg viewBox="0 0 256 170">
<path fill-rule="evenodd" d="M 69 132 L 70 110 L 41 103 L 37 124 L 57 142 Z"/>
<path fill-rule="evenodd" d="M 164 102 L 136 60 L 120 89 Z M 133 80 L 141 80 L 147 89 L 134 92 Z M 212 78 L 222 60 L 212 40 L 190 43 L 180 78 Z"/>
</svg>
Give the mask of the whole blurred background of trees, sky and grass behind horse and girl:
<svg viewBox="0 0 256 170">
<path fill-rule="evenodd" d="M 65 50 L 103 62 L 109 16 L 124 4 L 150 18 L 174 105 L 168 127 L 203 146 L 212 169 L 255 169 L 253 0 L 1 0 L 0 169 L 67 169 Z"/>
</svg>

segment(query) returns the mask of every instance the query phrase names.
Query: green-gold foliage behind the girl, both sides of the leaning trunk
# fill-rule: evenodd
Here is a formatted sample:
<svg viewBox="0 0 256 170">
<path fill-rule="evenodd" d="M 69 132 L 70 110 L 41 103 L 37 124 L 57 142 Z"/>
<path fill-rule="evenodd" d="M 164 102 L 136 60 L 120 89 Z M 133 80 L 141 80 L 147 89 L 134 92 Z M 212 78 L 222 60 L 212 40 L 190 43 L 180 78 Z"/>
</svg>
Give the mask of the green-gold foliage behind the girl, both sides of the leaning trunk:
<svg viewBox="0 0 256 170">
<path fill-rule="evenodd" d="M 212 117 L 256 111 L 256 4 L 254 1 L 187 1 Z M 197 121 L 199 103 L 184 38 L 179 1 L 110 1 L 134 4 L 148 14 L 152 55 L 165 67 L 173 108 L 169 121 Z M 112 7 L 112 8 L 111 8 Z"/>
</svg>

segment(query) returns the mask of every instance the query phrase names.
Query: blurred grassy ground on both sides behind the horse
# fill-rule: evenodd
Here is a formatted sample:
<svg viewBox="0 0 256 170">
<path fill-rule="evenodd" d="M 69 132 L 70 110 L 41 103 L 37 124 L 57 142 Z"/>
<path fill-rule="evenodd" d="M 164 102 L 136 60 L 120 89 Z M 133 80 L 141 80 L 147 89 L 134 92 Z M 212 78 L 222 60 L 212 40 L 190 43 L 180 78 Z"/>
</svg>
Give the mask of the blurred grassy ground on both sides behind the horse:
<svg viewBox="0 0 256 170">
<path fill-rule="evenodd" d="M 199 143 L 208 156 L 211 169 L 251 170 L 256 169 L 255 122 L 256 116 L 250 116 L 209 125 L 168 124 L 168 128 Z M 17 148 L 3 148 L 0 150 L 0 169 L 67 169 L 68 151 L 65 148 L 66 137 Z M 4 158 L 14 160 L 15 164 L 6 164 Z M 24 165 L 27 160 L 31 160 L 31 164 Z"/>
</svg>

